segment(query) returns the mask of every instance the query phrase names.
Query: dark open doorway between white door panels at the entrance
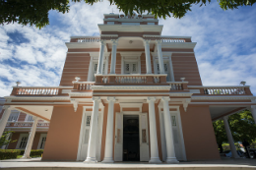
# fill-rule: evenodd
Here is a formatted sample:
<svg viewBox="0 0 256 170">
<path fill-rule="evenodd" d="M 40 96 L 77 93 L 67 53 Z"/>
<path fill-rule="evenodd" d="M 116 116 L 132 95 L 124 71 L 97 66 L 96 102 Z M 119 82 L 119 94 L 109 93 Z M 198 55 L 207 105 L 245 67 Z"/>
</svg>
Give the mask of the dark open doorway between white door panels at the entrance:
<svg viewBox="0 0 256 170">
<path fill-rule="evenodd" d="M 140 161 L 139 115 L 123 116 L 123 161 Z"/>
</svg>

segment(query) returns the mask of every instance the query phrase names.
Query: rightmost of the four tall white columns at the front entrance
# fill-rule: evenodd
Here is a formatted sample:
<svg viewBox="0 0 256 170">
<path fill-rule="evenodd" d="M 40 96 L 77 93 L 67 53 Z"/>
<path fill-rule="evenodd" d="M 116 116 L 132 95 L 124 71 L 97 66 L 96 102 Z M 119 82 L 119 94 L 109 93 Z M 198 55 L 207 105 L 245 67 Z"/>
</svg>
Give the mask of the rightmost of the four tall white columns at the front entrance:
<svg viewBox="0 0 256 170">
<path fill-rule="evenodd" d="M 175 148 L 173 142 L 173 132 L 172 132 L 172 124 L 169 115 L 169 97 L 162 97 L 163 102 L 163 119 L 164 119 L 164 129 L 165 129 L 165 141 L 166 141 L 166 163 L 178 163 L 175 155 Z"/>
</svg>

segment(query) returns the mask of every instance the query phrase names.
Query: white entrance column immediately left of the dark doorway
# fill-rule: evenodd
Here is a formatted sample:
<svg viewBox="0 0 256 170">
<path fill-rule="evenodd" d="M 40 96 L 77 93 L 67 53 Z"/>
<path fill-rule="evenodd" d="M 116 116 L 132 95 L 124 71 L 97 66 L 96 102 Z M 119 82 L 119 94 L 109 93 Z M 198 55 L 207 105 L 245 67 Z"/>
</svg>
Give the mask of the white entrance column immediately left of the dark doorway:
<svg viewBox="0 0 256 170">
<path fill-rule="evenodd" d="M 113 163 L 113 125 L 114 125 L 114 102 L 115 97 L 107 97 L 108 112 L 105 135 L 105 154 L 103 163 Z"/>
</svg>

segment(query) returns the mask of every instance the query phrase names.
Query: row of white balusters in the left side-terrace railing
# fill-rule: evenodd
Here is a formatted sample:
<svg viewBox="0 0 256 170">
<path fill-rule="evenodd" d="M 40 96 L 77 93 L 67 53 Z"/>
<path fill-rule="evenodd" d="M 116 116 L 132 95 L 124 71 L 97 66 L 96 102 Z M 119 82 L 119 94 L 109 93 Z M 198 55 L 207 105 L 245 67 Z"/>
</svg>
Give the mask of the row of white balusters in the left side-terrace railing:
<svg viewBox="0 0 256 170">
<path fill-rule="evenodd" d="M 18 87 L 19 95 L 58 95 L 57 87 Z"/>
</svg>

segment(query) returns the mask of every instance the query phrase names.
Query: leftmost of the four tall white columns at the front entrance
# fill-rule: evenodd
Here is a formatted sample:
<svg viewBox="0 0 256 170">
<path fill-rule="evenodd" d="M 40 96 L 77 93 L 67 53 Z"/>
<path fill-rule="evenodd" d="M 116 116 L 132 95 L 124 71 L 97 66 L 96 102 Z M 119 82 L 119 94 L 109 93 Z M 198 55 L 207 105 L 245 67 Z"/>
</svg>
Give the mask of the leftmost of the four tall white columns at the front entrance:
<svg viewBox="0 0 256 170">
<path fill-rule="evenodd" d="M 95 163 L 96 160 L 96 136 L 97 136 L 97 117 L 98 117 L 98 106 L 100 102 L 100 97 L 93 97 L 94 107 L 93 107 L 93 114 L 92 114 L 92 124 L 91 124 L 91 131 L 89 137 L 89 144 L 88 144 L 88 152 L 87 152 L 87 159 L 84 162 L 87 163 Z"/>
</svg>

